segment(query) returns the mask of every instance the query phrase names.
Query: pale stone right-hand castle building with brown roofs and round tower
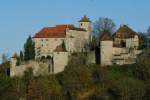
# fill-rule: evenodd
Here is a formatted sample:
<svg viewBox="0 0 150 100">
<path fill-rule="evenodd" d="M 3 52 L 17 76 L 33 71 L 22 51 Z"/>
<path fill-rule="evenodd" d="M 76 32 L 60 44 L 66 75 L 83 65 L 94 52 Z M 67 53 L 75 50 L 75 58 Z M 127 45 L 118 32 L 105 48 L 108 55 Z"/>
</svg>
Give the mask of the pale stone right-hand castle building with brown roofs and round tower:
<svg viewBox="0 0 150 100">
<path fill-rule="evenodd" d="M 103 33 L 100 38 L 101 65 L 135 63 L 141 53 L 138 49 L 141 41 L 140 35 L 127 25 L 120 26 L 112 36 Z"/>
</svg>

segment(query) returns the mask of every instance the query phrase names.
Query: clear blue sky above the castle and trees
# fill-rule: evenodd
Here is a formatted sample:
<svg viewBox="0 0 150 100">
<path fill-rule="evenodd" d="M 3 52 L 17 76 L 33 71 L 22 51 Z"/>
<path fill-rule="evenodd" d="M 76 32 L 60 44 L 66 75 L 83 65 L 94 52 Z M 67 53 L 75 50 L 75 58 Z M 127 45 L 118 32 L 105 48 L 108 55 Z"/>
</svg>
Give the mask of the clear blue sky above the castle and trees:
<svg viewBox="0 0 150 100">
<path fill-rule="evenodd" d="M 150 0 L 0 0 L 0 55 L 23 49 L 25 40 L 43 27 L 75 24 L 83 15 L 92 22 L 111 18 L 137 32 L 150 26 Z"/>
</svg>

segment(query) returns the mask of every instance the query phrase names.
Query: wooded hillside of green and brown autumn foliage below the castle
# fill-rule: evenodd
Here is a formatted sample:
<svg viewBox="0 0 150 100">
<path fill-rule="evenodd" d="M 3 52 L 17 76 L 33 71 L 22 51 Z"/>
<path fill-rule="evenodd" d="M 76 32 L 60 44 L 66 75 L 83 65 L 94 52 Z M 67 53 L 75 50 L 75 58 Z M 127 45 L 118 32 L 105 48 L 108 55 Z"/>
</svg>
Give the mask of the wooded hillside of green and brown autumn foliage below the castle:
<svg viewBox="0 0 150 100">
<path fill-rule="evenodd" d="M 145 52 L 133 65 L 101 67 L 75 55 L 56 75 L 10 78 L 1 69 L 1 100 L 149 100 L 150 56 Z"/>
</svg>

